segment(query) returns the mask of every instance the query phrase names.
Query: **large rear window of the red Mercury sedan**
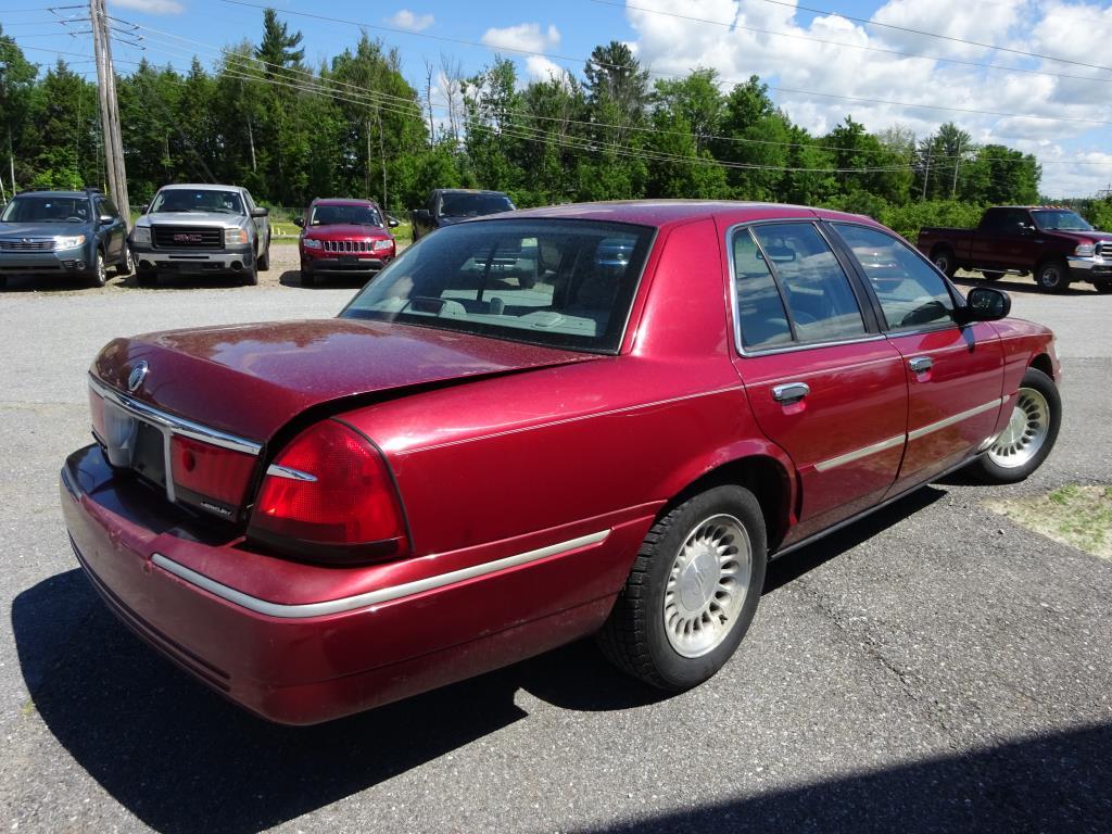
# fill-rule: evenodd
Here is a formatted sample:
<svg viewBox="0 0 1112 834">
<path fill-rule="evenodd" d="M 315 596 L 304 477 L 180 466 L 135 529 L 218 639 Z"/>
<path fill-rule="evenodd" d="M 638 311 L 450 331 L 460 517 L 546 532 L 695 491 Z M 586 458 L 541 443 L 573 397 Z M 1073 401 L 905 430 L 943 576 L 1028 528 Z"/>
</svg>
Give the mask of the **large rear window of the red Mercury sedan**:
<svg viewBox="0 0 1112 834">
<path fill-rule="evenodd" d="M 403 252 L 340 317 L 616 353 L 652 237 L 576 220 L 449 226 Z"/>
</svg>

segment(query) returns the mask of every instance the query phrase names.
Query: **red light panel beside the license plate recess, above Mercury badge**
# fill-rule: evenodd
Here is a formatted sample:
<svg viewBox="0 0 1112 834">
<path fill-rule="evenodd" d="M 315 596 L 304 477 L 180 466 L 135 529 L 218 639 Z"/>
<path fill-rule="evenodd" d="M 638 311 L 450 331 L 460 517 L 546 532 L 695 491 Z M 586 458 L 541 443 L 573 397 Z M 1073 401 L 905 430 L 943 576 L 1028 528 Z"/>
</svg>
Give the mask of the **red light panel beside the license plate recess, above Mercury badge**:
<svg viewBox="0 0 1112 834">
<path fill-rule="evenodd" d="M 175 494 L 226 518 L 234 518 L 244 503 L 258 458 L 175 435 L 170 464 Z"/>
</svg>

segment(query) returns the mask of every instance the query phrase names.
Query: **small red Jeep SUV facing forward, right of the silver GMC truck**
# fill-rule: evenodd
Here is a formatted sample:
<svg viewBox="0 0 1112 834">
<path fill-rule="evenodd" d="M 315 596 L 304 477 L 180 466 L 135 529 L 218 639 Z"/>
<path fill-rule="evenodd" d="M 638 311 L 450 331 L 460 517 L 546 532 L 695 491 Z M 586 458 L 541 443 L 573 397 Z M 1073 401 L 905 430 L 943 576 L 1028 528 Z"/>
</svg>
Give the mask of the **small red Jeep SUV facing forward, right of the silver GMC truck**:
<svg viewBox="0 0 1112 834">
<path fill-rule="evenodd" d="M 374 275 L 397 255 L 389 229 L 398 221 L 373 200 L 318 198 L 294 224 L 301 227 L 297 246 L 304 284 L 327 276 Z"/>
</svg>

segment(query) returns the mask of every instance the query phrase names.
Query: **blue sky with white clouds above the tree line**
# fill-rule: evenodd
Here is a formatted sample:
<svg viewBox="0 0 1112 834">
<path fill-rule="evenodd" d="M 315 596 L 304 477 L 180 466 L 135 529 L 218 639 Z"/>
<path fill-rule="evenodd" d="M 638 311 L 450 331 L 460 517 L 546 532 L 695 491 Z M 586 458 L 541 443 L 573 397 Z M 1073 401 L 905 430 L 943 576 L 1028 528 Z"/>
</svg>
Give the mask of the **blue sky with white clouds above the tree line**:
<svg viewBox="0 0 1112 834">
<path fill-rule="evenodd" d="M 75 1 L 60 0 L 60 6 Z M 128 61 L 141 56 L 183 68 L 196 53 L 210 64 L 220 47 L 245 38 L 257 41 L 261 31 L 261 9 L 221 0 L 108 2 L 111 14 L 140 27 L 135 32 L 146 47 L 140 51 L 117 42 L 116 58 L 123 72 L 133 66 Z M 310 62 L 354 44 L 364 24 L 373 37 L 397 47 L 406 75 L 419 89 L 425 86 L 424 62 L 438 66 L 441 53 L 470 73 L 500 52 L 514 58 L 523 79 L 528 79 L 564 70 L 579 75 L 596 44 L 616 39 L 631 43 L 661 78 L 696 66 L 714 67 L 732 81 L 757 73 L 774 88 L 777 103 L 816 132 L 828 130 L 847 113 L 870 130 L 896 126 L 919 136 L 953 120 L 976 142 L 1000 141 L 1034 153 L 1043 162 L 1043 190 L 1050 196 L 1092 195 L 1112 182 L 1109 2 L 810 0 L 806 4 L 836 13 L 804 11 L 783 0 L 274 3 L 290 30 L 304 33 Z M 28 58 L 50 63 L 56 51 L 91 54 L 89 36 L 82 33 L 87 24 L 58 22 L 80 17 L 85 8 L 81 3 L 52 13 L 32 0 L 0 0 L 0 23 L 27 48 Z M 945 34 L 950 40 L 907 30 Z M 512 47 L 548 57 L 526 56 L 510 51 Z M 91 62 L 78 63 L 87 59 L 63 57 L 77 64 L 75 69 L 92 75 Z M 986 63 L 994 67 L 976 66 Z"/>
</svg>

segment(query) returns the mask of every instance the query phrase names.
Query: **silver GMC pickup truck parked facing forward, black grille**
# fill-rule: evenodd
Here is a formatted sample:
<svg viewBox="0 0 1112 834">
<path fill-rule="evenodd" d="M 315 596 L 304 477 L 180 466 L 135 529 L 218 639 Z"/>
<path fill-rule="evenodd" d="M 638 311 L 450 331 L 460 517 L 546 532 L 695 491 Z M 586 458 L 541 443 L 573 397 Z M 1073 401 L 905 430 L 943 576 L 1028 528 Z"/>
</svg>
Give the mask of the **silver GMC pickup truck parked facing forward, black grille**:
<svg viewBox="0 0 1112 834">
<path fill-rule="evenodd" d="M 270 212 L 239 186 L 163 186 L 131 230 L 136 280 L 159 275 L 236 275 L 258 284 L 270 268 Z"/>
</svg>

